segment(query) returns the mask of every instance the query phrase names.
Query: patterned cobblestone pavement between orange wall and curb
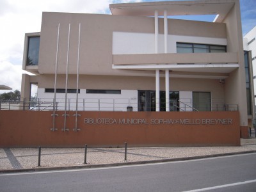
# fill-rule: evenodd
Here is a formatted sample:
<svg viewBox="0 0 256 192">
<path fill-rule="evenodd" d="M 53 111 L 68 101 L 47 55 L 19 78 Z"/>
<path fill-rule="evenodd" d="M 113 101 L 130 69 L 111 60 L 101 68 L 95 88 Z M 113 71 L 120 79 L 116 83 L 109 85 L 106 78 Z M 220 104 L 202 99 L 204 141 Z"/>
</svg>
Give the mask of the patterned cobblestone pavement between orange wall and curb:
<svg viewBox="0 0 256 192">
<path fill-rule="evenodd" d="M 124 161 L 124 148 L 88 148 L 86 166 L 253 151 L 256 152 L 256 138 L 241 139 L 240 147 L 127 148 L 127 161 Z M 40 165 L 42 168 L 83 166 L 84 148 L 42 148 Z M 38 168 L 38 148 L 0 148 L 0 171 L 28 168 Z"/>
</svg>

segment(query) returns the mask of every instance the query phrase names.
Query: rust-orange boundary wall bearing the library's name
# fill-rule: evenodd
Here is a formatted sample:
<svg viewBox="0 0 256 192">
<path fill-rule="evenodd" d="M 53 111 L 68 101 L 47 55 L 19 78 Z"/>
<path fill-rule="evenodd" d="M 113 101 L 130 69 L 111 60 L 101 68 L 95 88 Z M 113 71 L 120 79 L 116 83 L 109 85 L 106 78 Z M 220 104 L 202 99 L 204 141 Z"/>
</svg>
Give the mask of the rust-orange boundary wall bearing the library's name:
<svg viewBox="0 0 256 192">
<path fill-rule="evenodd" d="M 238 146 L 238 111 L 212 112 L 56 112 L 0 111 L 0 147 L 129 147 Z"/>
</svg>

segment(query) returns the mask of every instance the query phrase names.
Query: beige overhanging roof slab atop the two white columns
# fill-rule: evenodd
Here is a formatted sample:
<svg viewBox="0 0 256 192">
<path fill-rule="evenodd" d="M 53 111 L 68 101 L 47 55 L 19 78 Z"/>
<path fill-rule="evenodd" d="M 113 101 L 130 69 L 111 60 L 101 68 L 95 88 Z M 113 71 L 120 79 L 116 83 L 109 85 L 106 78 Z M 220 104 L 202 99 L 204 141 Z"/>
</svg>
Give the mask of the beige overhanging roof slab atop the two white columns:
<svg viewBox="0 0 256 192">
<path fill-rule="evenodd" d="M 120 3 L 109 4 L 113 15 L 154 16 L 155 10 L 163 15 L 166 10 L 168 15 L 218 15 L 215 22 L 222 22 L 236 0 L 211 0 L 211 1 L 162 1 L 147 3 Z"/>
</svg>

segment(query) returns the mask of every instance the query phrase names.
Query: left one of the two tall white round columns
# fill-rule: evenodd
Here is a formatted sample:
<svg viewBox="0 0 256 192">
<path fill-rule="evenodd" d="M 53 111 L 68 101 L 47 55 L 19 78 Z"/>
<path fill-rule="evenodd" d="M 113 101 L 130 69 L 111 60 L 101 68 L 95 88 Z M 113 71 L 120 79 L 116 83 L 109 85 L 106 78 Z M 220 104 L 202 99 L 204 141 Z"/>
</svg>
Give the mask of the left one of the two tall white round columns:
<svg viewBox="0 0 256 192">
<path fill-rule="evenodd" d="M 155 53 L 158 53 L 158 11 L 155 10 Z M 160 111 L 160 77 L 159 69 L 156 70 L 156 111 Z"/>
</svg>

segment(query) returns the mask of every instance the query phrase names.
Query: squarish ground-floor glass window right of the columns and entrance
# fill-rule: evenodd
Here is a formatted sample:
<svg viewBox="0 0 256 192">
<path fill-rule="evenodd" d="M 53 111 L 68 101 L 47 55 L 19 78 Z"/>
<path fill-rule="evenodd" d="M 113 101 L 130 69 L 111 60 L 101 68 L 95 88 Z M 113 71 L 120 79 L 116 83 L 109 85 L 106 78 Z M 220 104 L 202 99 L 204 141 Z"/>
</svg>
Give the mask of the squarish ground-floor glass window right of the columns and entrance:
<svg viewBox="0 0 256 192">
<path fill-rule="evenodd" d="M 193 92 L 193 108 L 211 111 L 211 92 Z"/>
</svg>

